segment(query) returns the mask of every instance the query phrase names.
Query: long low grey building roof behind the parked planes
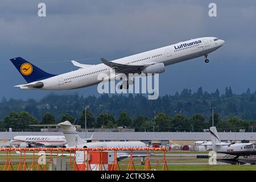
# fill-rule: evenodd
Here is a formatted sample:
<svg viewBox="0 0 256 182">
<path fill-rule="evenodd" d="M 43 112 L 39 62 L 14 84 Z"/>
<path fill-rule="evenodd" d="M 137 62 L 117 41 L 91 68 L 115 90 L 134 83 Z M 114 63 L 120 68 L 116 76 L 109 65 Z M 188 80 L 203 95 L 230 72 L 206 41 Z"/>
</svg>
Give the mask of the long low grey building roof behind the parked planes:
<svg viewBox="0 0 256 182">
<path fill-rule="evenodd" d="M 79 135 L 93 140 L 210 140 L 208 132 L 84 132 Z M 222 132 L 221 140 L 256 140 L 256 133 Z M 63 135 L 62 132 L 0 132 L 0 139 L 11 139 L 18 135 Z"/>
</svg>

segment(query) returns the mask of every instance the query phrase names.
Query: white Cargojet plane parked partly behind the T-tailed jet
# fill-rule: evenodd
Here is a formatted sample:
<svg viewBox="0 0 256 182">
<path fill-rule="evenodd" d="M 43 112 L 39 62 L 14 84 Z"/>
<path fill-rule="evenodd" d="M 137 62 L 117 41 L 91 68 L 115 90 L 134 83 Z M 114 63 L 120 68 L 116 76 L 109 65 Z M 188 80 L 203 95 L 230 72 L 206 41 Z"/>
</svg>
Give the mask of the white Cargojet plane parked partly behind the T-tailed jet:
<svg viewBox="0 0 256 182">
<path fill-rule="evenodd" d="M 75 119 L 73 126 L 79 122 Z M 74 127 L 74 130 L 76 128 Z M 93 134 L 90 138 L 85 138 L 86 142 L 92 142 Z M 28 136 L 15 136 L 10 140 L 11 146 L 18 146 L 19 148 L 32 148 L 32 147 L 68 147 L 67 140 L 64 136 L 41 136 L 41 135 L 28 135 Z"/>
</svg>

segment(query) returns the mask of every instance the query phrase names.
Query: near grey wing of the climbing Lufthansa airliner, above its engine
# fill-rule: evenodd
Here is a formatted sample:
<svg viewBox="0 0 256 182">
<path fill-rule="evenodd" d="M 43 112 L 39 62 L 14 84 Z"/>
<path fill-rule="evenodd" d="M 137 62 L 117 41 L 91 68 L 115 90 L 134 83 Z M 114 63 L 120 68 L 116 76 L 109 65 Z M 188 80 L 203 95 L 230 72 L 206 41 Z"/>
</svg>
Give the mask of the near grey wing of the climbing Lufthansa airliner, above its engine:
<svg viewBox="0 0 256 182">
<path fill-rule="evenodd" d="M 120 63 L 114 63 L 112 61 L 108 61 L 101 57 L 102 63 L 107 65 L 110 68 L 114 68 L 115 72 L 118 73 L 139 73 L 143 68 L 147 67 L 148 65 L 129 65 L 129 64 L 120 64 Z M 154 63 L 153 63 L 154 64 Z"/>
</svg>

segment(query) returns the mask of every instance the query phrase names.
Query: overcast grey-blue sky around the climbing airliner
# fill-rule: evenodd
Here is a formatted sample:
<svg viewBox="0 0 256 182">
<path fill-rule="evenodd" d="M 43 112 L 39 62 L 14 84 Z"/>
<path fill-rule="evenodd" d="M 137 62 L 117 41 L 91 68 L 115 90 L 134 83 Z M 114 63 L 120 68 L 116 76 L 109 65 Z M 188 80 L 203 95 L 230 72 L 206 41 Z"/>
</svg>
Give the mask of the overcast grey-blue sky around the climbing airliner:
<svg viewBox="0 0 256 182">
<path fill-rule="evenodd" d="M 38 3 L 47 16 L 38 16 Z M 208 16 L 210 2 L 217 17 Z M 10 60 L 22 56 L 49 73 L 77 69 L 70 61 L 98 64 L 203 36 L 225 45 L 204 57 L 170 65 L 160 77 L 160 95 L 183 88 L 208 92 L 256 90 L 256 1 L 10 1 L 0 3 L 1 97 L 41 98 L 53 91 L 20 90 L 26 81 Z M 97 93 L 97 86 L 56 91 Z M 1 98 L 0 97 L 0 98 Z"/>
</svg>

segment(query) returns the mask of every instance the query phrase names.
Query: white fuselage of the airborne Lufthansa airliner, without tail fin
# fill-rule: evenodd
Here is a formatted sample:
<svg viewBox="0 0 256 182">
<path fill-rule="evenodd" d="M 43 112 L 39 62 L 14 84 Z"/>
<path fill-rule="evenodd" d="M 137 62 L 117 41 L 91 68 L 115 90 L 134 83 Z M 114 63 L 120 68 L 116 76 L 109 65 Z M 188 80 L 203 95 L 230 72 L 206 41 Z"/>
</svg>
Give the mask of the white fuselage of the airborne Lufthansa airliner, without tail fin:
<svg viewBox="0 0 256 182">
<path fill-rule="evenodd" d="M 127 64 L 127 65 L 150 65 L 163 63 L 164 66 L 180 63 L 208 55 L 209 53 L 220 48 L 224 44 L 224 40 L 214 37 L 205 37 L 198 39 L 191 39 L 185 42 L 173 44 L 151 51 L 138 53 L 136 55 L 123 57 L 121 59 L 113 60 L 114 63 Z M 53 76 L 44 80 L 42 90 L 67 90 L 83 88 L 90 85 L 95 85 L 100 82 L 98 75 L 106 73 L 110 75 L 112 68 L 105 64 L 97 64 L 87 68 L 80 68 L 76 71 L 64 73 L 61 75 Z M 36 81 L 38 82 L 38 81 Z M 30 84 L 36 83 L 32 82 Z M 26 86 L 20 87 L 21 89 L 36 89 Z M 39 88 L 38 88 L 39 89 Z"/>
</svg>

